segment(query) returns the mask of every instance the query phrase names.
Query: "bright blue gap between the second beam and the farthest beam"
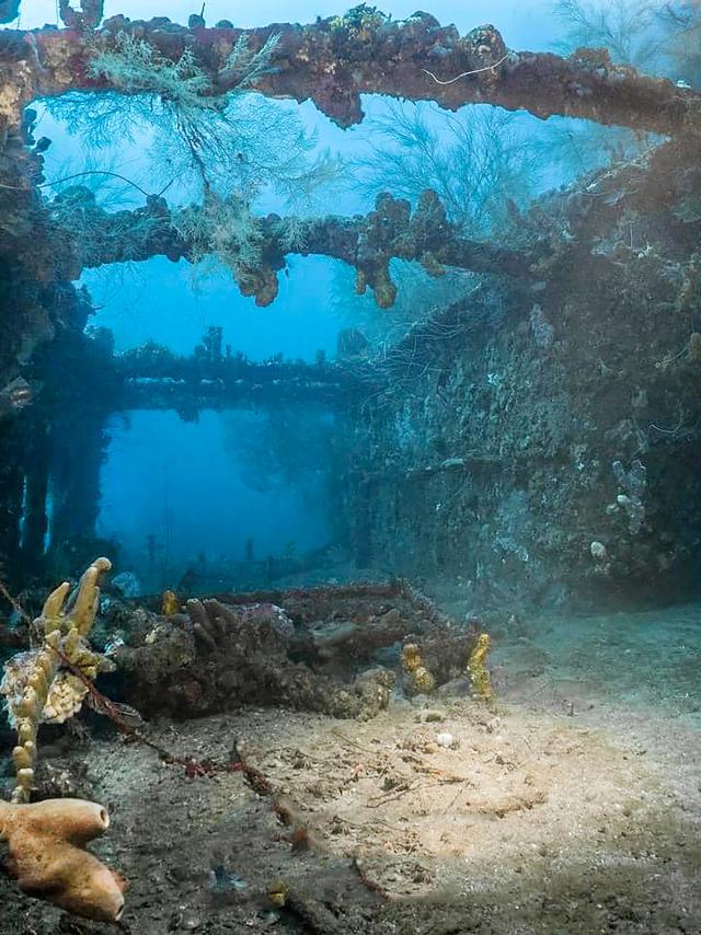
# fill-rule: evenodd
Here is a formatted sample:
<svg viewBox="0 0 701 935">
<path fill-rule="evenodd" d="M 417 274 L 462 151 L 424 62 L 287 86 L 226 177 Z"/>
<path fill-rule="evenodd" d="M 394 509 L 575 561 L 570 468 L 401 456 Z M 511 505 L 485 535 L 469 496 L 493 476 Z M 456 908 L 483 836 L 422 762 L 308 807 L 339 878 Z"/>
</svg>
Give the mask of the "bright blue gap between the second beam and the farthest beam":
<svg viewBox="0 0 701 935">
<path fill-rule="evenodd" d="M 288 274 L 280 277 L 277 300 L 265 309 L 241 296 L 229 272 L 214 259 L 202 270 L 162 256 L 105 265 L 83 270 L 77 285 L 88 289 L 94 307 L 88 333 L 108 330 L 115 354 L 151 345 L 176 355 L 200 353 L 203 336 L 218 328 L 222 355 L 258 363 L 280 355 L 310 365 L 318 358 L 333 360 L 338 334 L 352 321 L 326 304 L 337 289 L 335 270 L 310 256 L 292 258 Z"/>
</svg>

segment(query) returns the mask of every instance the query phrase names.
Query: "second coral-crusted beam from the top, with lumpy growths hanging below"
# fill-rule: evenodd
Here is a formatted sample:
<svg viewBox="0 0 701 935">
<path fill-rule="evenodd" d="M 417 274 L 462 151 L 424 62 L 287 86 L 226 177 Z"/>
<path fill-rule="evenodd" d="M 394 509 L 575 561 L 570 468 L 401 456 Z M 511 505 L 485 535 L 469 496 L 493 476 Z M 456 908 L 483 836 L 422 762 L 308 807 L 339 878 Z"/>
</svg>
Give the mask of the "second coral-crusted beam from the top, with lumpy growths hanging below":
<svg viewBox="0 0 701 935">
<path fill-rule="evenodd" d="M 186 211 L 189 227 L 205 231 L 206 209 L 191 207 Z M 194 216 L 200 212 L 204 222 L 193 224 Z M 183 226 L 162 198 L 149 198 L 147 206 L 136 211 L 110 213 L 95 205 L 89 189 L 71 189 L 54 201 L 53 213 L 61 218 L 71 234 L 67 244 L 69 258 L 60 270 L 69 278 L 77 278 L 85 267 L 156 255 L 172 261 L 192 259 L 194 253 L 207 253 L 209 249 L 202 238 L 193 244 L 179 232 Z M 357 270 L 357 291 L 370 288 L 380 308 L 389 308 L 397 297 L 389 269 L 393 257 L 418 261 L 433 276 L 452 267 L 520 278 L 533 277 L 530 267 L 539 258 L 526 251 L 463 236 L 446 218 L 433 192 L 424 193 L 413 212 L 409 201 L 380 195 L 367 217 L 295 219 L 294 244 L 289 243 L 289 220 L 269 215 L 251 223 L 257 227 L 254 241 L 258 244 L 258 262 L 254 266 L 239 263 L 234 239 L 231 254 L 220 258 L 231 268 L 243 295 L 255 296 L 258 305 L 268 305 L 275 299 L 277 273 L 285 267 L 288 254 L 318 254 L 347 263 Z M 220 231 L 217 240 L 221 249 Z M 214 250 L 214 243 L 211 246 Z"/>
</svg>

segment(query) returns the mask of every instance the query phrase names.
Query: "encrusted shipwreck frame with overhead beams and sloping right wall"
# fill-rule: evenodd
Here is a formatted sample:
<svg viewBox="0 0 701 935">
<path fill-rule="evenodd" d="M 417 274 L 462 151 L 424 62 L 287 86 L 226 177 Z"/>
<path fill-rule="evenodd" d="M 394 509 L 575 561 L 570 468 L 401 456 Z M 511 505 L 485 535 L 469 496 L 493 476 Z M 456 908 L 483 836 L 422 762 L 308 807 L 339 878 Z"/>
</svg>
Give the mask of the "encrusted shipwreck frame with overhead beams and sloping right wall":
<svg viewBox="0 0 701 935">
<path fill-rule="evenodd" d="M 0 10 L 9 21 L 15 5 Z M 193 417 L 284 397 L 343 401 L 337 431 L 354 457 L 335 478 L 337 507 L 361 567 L 445 575 L 505 603 L 694 591 L 700 93 L 602 50 L 516 53 L 492 26 L 460 35 L 424 13 L 394 22 L 358 8 L 242 31 L 197 16 L 102 22 L 87 0 L 61 10 L 66 28 L 0 32 L 0 562 L 10 579 L 39 568 L 51 540 L 94 535 L 111 413 Z M 275 34 L 274 68 L 256 91 L 311 100 L 343 127 L 363 119 L 361 94 L 386 94 L 581 117 L 657 142 L 540 199 L 514 219 L 510 243 L 466 239 L 433 193 L 413 210 L 390 193 L 367 217 L 299 219 L 294 250 L 279 218 L 257 219 L 261 262 L 235 277 L 258 304 L 275 300 L 290 252 L 350 265 L 380 309 L 395 298 L 393 257 L 432 275 L 481 274 L 469 299 L 414 326 L 374 367 L 253 365 L 220 346 L 118 358 L 107 339 L 83 335 L 89 305 L 73 281 L 88 266 L 188 259 L 193 243 L 162 196 L 111 215 L 77 189 L 64 213 L 92 236 L 57 228 L 25 108 L 67 92 L 128 93 L 89 67 L 96 42 L 110 48 L 125 34 L 171 60 L 189 50 L 214 96 L 235 86 L 225 64 L 237 42 L 256 51 Z M 77 422 L 80 437 L 57 445 Z"/>
</svg>

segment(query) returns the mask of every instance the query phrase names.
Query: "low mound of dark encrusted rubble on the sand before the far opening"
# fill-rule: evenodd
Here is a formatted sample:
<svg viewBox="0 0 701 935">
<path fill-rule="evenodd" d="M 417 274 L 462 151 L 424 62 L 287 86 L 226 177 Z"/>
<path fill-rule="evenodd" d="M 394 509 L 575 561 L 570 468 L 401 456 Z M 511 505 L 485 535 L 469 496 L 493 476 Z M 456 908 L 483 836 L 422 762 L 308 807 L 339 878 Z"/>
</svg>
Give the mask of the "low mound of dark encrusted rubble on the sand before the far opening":
<svg viewBox="0 0 701 935">
<path fill-rule="evenodd" d="M 145 715 L 273 703 L 369 718 L 387 706 L 400 662 L 378 665 L 378 650 L 417 643 L 435 672 L 413 672 L 426 692 L 464 672 L 476 638 L 432 622 L 401 585 L 343 586 L 191 600 L 187 614 L 150 615 L 115 658 L 124 697 Z"/>
</svg>

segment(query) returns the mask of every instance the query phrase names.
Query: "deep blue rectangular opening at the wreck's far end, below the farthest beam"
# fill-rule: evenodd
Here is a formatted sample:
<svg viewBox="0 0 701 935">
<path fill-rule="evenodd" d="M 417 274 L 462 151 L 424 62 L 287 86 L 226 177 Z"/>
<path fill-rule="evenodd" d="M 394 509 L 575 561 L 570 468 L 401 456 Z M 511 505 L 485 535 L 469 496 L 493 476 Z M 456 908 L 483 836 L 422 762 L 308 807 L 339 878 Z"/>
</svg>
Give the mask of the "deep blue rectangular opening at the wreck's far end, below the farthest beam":
<svg viewBox="0 0 701 935">
<path fill-rule="evenodd" d="M 173 411 L 143 409 L 113 417 L 96 534 L 117 544 L 133 587 L 138 579 L 146 593 L 183 581 L 193 592 L 231 581 L 255 588 L 320 562 L 332 544 L 330 439 L 318 438 L 308 460 L 286 459 L 300 423 L 333 428 L 330 413 L 304 404 L 276 416 L 203 409 L 183 422 Z"/>
</svg>

